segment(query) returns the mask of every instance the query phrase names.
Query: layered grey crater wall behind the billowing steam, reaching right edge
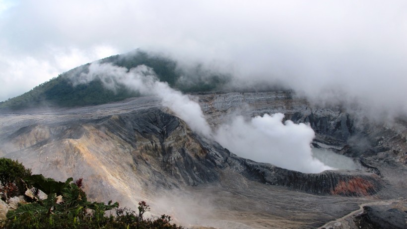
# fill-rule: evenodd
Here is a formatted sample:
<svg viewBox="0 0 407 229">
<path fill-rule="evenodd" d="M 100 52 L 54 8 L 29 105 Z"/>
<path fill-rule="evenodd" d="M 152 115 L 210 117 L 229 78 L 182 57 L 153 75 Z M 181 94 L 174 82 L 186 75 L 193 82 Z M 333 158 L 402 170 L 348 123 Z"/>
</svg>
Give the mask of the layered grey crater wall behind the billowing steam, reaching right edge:
<svg viewBox="0 0 407 229">
<path fill-rule="evenodd" d="M 318 107 L 289 91 L 233 92 L 199 95 L 212 126 L 227 120 L 229 114 L 246 117 L 283 113 L 294 123 L 309 123 L 316 133 L 313 145 L 355 158 L 378 153 L 407 164 L 405 120 L 393 123 L 371 123 L 363 117 L 346 113 L 341 107 Z"/>
</svg>

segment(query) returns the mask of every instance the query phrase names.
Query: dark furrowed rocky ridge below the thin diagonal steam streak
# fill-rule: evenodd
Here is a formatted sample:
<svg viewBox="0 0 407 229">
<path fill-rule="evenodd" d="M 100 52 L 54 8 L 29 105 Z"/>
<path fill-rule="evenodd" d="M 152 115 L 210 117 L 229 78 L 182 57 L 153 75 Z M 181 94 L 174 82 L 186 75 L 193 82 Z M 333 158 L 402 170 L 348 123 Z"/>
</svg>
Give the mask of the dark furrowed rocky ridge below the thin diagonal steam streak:
<svg viewBox="0 0 407 229">
<path fill-rule="evenodd" d="M 178 183 L 197 185 L 218 180 L 215 164 L 186 124 L 160 109 L 112 116 L 96 123 L 132 145 L 135 164 L 149 163 Z M 176 182 L 175 182 L 176 183 Z"/>
</svg>

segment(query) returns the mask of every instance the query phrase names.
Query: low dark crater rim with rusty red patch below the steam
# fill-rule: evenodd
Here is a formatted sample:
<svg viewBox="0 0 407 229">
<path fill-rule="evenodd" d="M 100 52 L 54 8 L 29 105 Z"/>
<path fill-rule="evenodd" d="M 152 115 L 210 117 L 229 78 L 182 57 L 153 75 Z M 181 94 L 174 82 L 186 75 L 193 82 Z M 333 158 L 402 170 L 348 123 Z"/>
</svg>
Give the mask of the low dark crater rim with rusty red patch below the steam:
<svg viewBox="0 0 407 229">
<path fill-rule="evenodd" d="M 228 160 L 230 166 L 240 167 L 239 172 L 249 179 L 312 194 L 368 196 L 375 194 L 382 187 L 380 177 L 371 173 L 324 171 L 310 174 L 258 163 L 234 155 L 231 158 Z"/>
</svg>

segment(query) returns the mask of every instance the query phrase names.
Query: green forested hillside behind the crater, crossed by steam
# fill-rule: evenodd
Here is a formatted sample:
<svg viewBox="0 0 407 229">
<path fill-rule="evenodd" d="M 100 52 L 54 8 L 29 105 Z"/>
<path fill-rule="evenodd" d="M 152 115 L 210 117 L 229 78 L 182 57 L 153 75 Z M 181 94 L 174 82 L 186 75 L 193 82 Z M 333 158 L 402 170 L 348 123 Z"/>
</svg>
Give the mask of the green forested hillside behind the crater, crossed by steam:
<svg viewBox="0 0 407 229">
<path fill-rule="evenodd" d="M 149 55 L 139 50 L 111 56 L 100 60 L 100 63 L 111 63 L 129 70 L 139 65 L 148 66 L 154 70 L 160 81 L 168 82 L 171 87 L 183 92 L 211 91 L 228 81 L 227 76 L 207 74 L 200 66 L 196 67 L 193 73 L 181 70 L 173 60 Z M 81 73 L 87 73 L 89 65 L 86 64 L 69 70 L 22 95 L 0 102 L 0 108 L 18 110 L 41 106 L 97 105 L 140 96 L 138 92 L 129 90 L 124 85 L 116 91 L 109 90 L 103 87 L 103 83 L 99 79 L 87 84 L 73 85 L 70 78 L 78 77 Z M 180 78 L 186 78 L 186 80 L 180 80 Z"/>
</svg>

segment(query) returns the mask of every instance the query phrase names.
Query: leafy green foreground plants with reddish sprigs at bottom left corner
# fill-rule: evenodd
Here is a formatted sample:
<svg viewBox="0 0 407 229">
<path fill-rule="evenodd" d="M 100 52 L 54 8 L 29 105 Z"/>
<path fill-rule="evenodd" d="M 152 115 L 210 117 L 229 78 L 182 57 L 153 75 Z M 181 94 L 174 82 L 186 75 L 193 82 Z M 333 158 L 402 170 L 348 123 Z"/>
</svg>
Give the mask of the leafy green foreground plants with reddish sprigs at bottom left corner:
<svg viewBox="0 0 407 229">
<path fill-rule="evenodd" d="M 118 208 L 119 203 L 87 201 L 81 189 L 82 180 L 75 183 L 72 178 L 65 182 L 31 175 L 24 180 L 29 186 L 43 191 L 47 199 L 41 199 L 34 191 L 31 203 L 19 204 L 16 210 L 7 212 L 6 220 L 0 222 L 0 229 L 182 229 L 170 224 L 171 217 L 144 218 L 150 210 L 148 205 L 138 203 L 138 213 L 128 208 Z M 116 216 L 105 214 L 116 210 Z"/>
</svg>

